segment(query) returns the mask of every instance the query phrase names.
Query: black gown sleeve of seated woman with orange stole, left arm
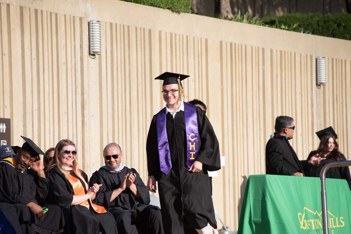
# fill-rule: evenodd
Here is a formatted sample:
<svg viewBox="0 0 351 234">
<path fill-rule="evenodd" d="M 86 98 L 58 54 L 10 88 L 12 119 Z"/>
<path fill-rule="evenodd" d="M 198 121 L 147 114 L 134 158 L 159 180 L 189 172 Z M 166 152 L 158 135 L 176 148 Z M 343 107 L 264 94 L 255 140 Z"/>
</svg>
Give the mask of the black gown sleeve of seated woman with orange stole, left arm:
<svg viewBox="0 0 351 234">
<path fill-rule="evenodd" d="M 52 202 L 69 208 L 72 204 L 74 194 L 68 190 L 71 184 L 65 175 L 56 168 L 52 168 L 47 172 L 46 178 L 49 182 Z"/>
</svg>

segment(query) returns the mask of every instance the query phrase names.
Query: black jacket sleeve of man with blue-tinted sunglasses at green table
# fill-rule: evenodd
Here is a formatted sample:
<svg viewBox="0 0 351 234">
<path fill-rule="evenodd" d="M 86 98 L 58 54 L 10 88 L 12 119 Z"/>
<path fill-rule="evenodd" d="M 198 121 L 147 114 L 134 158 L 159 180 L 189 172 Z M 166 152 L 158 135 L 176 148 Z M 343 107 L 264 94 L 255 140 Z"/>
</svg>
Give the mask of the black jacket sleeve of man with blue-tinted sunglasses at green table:
<svg viewBox="0 0 351 234">
<path fill-rule="evenodd" d="M 276 175 L 292 175 L 296 171 L 292 172 L 284 166 L 283 163 L 283 148 L 281 144 L 274 144 L 273 141 L 269 141 L 267 144 L 266 161 L 269 164 L 270 169 Z"/>
</svg>

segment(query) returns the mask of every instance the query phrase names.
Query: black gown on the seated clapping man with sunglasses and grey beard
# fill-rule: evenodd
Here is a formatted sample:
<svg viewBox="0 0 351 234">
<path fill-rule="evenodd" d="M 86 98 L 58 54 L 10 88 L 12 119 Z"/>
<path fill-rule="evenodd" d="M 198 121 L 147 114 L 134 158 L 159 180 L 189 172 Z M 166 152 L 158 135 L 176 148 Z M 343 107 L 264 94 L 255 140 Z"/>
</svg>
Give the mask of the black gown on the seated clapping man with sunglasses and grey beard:
<svg viewBox="0 0 351 234">
<path fill-rule="evenodd" d="M 113 201 L 110 202 L 113 190 L 119 188 L 121 180 L 126 174 L 135 173 L 137 177 L 134 180 L 135 186 L 141 196 L 141 200 L 134 197 L 132 192 L 126 188 L 120 193 Z M 159 209 L 157 206 L 150 204 L 150 194 L 145 186 L 143 180 L 141 180 L 139 173 L 134 168 L 124 167 L 123 171 L 116 173 L 100 168 L 99 171 L 95 171 L 90 178 L 89 186 L 93 184 L 102 184 L 99 191 L 95 195 L 94 201 L 96 204 L 105 206 L 114 216 L 117 222 L 118 230 L 126 234 L 136 234 L 138 226 L 145 226 L 143 220 L 135 219 L 144 210 L 153 208 Z M 161 222 L 161 221 L 160 221 Z M 155 223 L 148 223 L 146 226 L 157 226 Z M 148 228 L 148 227 L 146 227 Z M 157 228 L 157 227 L 156 227 Z M 150 228 L 151 229 L 151 228 Z"/>
</svg>

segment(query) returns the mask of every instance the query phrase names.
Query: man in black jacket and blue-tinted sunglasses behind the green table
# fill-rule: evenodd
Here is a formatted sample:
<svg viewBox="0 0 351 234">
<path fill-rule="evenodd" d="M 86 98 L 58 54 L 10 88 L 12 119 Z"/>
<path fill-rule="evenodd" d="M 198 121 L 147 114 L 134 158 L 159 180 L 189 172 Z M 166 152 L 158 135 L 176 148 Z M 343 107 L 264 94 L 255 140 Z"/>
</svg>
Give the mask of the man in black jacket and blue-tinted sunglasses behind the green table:
<svg viewBox="0 0 351 234">
<path fill-rule="evenodd" d="M 309 161 L 299 160 L 289 143 L 295 132 L 294 119 L 278 116 L 274 132 L 266 145 L 266 174 L 304 176 L 304 168 L 314 165 L 325 158 L 314 155 Z"/>
</svg>

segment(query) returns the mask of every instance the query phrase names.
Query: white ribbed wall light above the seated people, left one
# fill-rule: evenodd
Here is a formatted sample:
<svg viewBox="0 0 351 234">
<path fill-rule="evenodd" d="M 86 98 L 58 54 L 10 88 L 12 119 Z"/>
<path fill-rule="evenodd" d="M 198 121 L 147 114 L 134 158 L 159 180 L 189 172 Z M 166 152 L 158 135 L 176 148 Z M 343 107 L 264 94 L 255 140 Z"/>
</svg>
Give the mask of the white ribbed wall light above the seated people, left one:
<svg viewBox="0 0 351 234">
<path fill-rule="evenodd" d="M 101 54 L 101 22 L 89 21 L 89 54 Z"/>
</svg>

